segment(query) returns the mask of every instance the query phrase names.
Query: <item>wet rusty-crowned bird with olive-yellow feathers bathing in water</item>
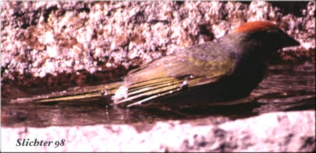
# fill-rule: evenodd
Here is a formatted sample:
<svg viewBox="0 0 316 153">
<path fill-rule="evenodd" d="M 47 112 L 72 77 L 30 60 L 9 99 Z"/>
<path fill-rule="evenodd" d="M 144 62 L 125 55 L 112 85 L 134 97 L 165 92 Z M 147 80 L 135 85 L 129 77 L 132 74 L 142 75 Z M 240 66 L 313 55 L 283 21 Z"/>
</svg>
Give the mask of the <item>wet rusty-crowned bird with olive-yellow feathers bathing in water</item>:
<svg viewBox="0 0 316 153">
<path fill-rule="evenodd" d="M 250 21 L 214 41 L 143 64 L 119 82 L 14 101 L 45 103 L 110 96 L 110 105 L 133 107 L 151 101 L 179 106 L 239 100 L 265 78 L 271 56 L 281 48 L 299 45 L 275 23 Z"/>
</svg>

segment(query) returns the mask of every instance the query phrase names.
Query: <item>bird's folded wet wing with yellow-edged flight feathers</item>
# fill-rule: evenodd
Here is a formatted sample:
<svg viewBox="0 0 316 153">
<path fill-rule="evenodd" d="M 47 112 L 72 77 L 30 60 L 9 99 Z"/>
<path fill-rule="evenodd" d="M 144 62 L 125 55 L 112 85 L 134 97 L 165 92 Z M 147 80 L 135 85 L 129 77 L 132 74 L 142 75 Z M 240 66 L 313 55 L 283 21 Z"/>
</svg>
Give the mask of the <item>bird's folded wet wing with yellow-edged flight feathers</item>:
<svg viewBox="0 0 316 153">
<path fill-rule="evenodd" d="M 234 58 L 206 47 L 205 44 L 192 46 L 131 71 L 121 88 L 123 94 L 113 97 L 114 105 L 131 101 L 134 103 L 127 107 L 138 105 L 181 92 L 183 88 L 214 83 L 230 75 L 234 69 Z M 209 49 L 209 53 L 205 53 L 205 49 Z"/>
</svg>

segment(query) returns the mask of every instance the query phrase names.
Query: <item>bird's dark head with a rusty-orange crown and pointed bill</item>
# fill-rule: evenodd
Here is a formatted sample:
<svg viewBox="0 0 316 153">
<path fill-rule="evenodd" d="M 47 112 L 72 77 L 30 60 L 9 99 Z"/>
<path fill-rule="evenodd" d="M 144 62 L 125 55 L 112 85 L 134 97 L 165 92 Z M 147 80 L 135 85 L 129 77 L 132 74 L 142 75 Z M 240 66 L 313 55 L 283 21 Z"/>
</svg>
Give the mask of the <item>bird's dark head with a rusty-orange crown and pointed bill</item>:
<svg viewBox="0 0 316 153">
<path fill-rule="evenodd" d="M 280 48 L 298 46 L 300 43 L 288 36 L 276 24 L 268 21 L 253 21 L 244 23 L 228 36 L 226 43 L 239 53 L 257 54 L 258 56 L 270 56 Z"/>
</svg>

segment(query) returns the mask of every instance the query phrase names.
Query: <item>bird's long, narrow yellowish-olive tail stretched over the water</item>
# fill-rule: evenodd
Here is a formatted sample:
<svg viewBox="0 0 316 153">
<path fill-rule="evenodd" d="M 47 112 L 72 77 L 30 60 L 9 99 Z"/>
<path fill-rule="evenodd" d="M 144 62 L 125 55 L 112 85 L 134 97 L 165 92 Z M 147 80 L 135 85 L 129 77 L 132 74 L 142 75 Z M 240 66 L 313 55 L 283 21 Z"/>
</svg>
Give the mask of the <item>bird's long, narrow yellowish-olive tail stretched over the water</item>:
<svg viewBox="0 0 316 153">
<path fill-rule="evenodd" d="M 64 102 L 64 101 L 85 101 L 94 98 L 107 97 L 114 95 L 116 90 L 121 86 L 122 82 L 108 83 L 104 85 L 95 85 L 89 87 L 75 87 L 58 93 L 50 93 L 48 95 L 38 95 L 36 97 L 24 97 L 11 100 L 13 103 L 24 102 Z"/>
</svg>

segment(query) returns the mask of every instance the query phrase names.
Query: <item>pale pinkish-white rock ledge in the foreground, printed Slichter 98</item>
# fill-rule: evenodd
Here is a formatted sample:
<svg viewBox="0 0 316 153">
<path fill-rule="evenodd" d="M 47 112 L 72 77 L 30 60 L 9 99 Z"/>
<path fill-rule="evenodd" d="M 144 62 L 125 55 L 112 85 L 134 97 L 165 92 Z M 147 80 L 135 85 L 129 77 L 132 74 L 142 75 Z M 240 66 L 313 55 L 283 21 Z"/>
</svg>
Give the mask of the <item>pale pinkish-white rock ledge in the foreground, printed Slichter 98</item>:
<svg viewBox="0 0 316 153">
<path fill-rule="evenodd" d="M 200 124 L 2 127 L 3 152 L 315 152 L 315 111 L 273 112 L 241 120 Z M 224 119 L 223 119 L 224 120 Z M 17 139 L 53 141 L 16 146 Z M 63 146 L 55 148 L 55 141 Z"/>
</svg>

